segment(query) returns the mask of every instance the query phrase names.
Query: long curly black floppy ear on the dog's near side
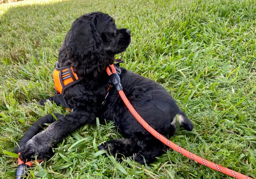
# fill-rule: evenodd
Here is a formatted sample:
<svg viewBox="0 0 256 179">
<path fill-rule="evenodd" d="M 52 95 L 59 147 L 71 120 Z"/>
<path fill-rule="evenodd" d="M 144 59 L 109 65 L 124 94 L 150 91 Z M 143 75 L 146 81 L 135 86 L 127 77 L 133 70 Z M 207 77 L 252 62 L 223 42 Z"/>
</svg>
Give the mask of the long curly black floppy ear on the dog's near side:
<svg viewBox="0 0 256 179">
<path fill-rule="evenodd" d="M 96 16 L 81 16 L 65 38 L 67 56 L 73 63 L 74 72 L 82 77 L 97 78 L 108 63 L 96 25 Z"/>
</svg>

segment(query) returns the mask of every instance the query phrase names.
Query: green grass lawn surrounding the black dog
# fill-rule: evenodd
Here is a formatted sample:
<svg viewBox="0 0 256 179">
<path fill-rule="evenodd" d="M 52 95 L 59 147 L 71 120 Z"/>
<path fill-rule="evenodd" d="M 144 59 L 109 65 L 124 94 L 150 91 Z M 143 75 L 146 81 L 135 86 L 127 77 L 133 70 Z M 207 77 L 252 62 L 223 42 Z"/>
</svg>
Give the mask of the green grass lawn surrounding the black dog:
<svg viewBox="0 0 256 179">
<path fill-rule="evenodd" d="M 162 84 L 194 123 L 173 142 L 256 178 L 256 2 L 250 0 L 23 1 L 0 5 L 0 177 L 14 178 L 14 152 L 40 117 L 64 109 L 20 103 L 54 95 L 52 71 L 71 23 L 102 11 L 132 43 L 124 67 Z M 112 123 L 85 125 L 31 169 L 30 178 L 229 178 L 168 150 L 150 165 L 97 153 L 120 138 Z M 80 141 L 80 142 L 78 142 Z M 130 167 L 128 166 L 130 165 Z"/>
</svg>

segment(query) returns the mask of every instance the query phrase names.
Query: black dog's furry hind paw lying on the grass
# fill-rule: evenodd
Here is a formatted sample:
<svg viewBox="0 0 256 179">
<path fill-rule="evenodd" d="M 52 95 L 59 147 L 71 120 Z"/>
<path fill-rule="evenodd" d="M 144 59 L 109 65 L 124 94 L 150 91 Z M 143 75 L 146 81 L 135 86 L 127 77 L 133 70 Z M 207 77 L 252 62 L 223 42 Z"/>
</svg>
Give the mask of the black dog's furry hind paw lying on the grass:
<svg viewBox="0 0 256 179">
<path fill-rule="evenodd" d="M 117 154 L 117 158 L 121 158 L 123 155 L 125 157 L 133 155 L 140 151 L 140 147 L 137 145 L 137 142 L 130 139 L 115 139 L 101 144 L 98 147 L 99 150 L 106 150 L 110 152 L 111 155 Z"/>
</svg>

